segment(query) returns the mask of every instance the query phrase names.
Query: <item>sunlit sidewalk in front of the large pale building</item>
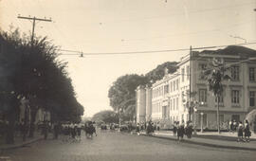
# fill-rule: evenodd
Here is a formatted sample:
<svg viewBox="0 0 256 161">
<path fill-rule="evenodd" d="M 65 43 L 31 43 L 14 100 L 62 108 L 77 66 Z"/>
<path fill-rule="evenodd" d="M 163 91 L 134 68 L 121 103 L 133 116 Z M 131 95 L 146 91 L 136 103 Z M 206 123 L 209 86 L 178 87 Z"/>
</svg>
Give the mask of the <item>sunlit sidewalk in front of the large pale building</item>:
<svg viewBox="0 0 256 161">
<path fill-rule="evenodd" d="M 145 133 L 140 133 L 146 135 Z M 172 131 L 160 131 L 159 133 L 155 132 L 152 135 L 153 137 L 159 137 L 170 140 L 177 140 L 177 137 L 173 134 Z M 187 138 L 184 136 L 184 139 L 181 142 L 189 144 L 197 144 L 202 146 L 209 146 L 215 148 L 226 148 L 234 150 L 247 150 L 247 151 L 256 151 L 256 135 L 252 134 L 250 142 L 237 142 L 236 133 L 197 133 L 193 135 L 192 138 Z"/>
</svg>

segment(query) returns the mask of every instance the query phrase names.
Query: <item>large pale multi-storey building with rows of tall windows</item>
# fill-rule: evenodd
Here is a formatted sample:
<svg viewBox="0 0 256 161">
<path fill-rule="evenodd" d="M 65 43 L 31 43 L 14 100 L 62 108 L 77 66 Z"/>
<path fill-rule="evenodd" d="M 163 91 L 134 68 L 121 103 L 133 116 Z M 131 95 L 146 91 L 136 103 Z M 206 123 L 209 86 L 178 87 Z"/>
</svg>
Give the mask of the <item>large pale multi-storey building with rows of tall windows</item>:
<svg viewBox="0 0 256 161">
<path fill-rule="evenodd" d="M 148 114 L 147 119 L 172 124 L 174 121 L 190 119 L 188 102 L 196 101 L 196 112 L 191 113 L 191 119 L 199 128 L 216 129 L 217 101 L 208 91 L 208 84 L 202 75 L 203 69 L 210 60 L 217 58 L 225 66 L 230 66 L 227 74 L 231 80 L 223 80 L 223 96 L 220 98 L 220 122 L 225 126 L 229 120 L 243 120 L 247 113 L 256 108 L 256 51 L 242 46 L 229 46 L 225 49 L 194 51 L 177 64 L 176 72 L 168 74 L 162 80 L 156 81 L 150 88 L 152 98 L 146 99 L 146 90 L 139 87 L 137 98 L 143 104 L 137 104 L 140 114 Z M 191 77 L 191 78 L 190 78 Z M 144 91 L 144 98 L 139 97 Z M 190 97 L 191 94 L 191 97 Z M 191 101 L 190 101 L 191 100 Z M 150 112 L 144 104 L 151 104 Z M 151 115 L 149 114 L 151 113 Z M 144 115 L 145 116 L 145 115 Z M 141 116 L 137 121 L 141 122 Z"/>
</svg>

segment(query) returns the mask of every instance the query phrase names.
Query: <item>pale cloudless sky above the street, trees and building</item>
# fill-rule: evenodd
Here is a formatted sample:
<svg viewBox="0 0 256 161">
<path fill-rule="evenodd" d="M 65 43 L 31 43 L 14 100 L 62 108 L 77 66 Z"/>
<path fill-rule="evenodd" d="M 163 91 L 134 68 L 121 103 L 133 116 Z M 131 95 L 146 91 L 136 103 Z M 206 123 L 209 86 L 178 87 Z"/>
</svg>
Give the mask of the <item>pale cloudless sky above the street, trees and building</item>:
<svg viewBox="0 0 256 161">
<path fill-rule="evenodd" d="M 84 116 L 112 109 L 108 89 L 120 76 L 146 74 L 158 64 L 178 62 L 189 51 L 119 55 L 256 42 L 256 0 L 0 0 L 0 27 L 31 33 L 17 16 L 51 18 L 35 34 L 54 45 L 91 55 L 61 55 L 68 63 Z M 247 45 L 256 48 L 256 45 Z M 70 54 L 63 52 L 63 54 Z"/>
</svg>

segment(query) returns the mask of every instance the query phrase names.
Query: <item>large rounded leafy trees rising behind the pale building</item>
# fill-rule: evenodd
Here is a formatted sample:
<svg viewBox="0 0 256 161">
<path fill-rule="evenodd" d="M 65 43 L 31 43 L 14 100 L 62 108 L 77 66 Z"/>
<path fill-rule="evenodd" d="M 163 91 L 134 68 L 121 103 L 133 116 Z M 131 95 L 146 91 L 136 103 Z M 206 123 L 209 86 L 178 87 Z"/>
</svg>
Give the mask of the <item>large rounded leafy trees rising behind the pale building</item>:
<svg viewBox="0 0 256 161">
<path fill-rule="evenodd" d="M 146 75 L 130 74 L 119 77 L 108 91 L 110 106 L 118 112 L 122 120 L 133 120 L 136 116 L 136 88 L 138 85 L 151 85 L 156 80 L 161 80 L 167 68 L 169 73 L 176 70 L 175 62 L 158 65 Z"/>
</svg>

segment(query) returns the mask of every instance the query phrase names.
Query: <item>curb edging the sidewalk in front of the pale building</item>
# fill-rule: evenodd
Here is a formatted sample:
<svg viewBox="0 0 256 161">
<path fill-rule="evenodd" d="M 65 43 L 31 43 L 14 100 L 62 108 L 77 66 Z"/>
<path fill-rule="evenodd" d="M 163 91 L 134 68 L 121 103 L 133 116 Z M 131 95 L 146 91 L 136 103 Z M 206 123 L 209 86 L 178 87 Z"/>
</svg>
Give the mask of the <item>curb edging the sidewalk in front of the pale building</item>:
<svg viewBox="0 0 256 161">
<path fill-rule="evenodd" d="M 175 138 L 168 137 L 168 136 L 147 135 L 147 134 L 140 134 L 140 135 L 176 141 Z M 196 141 L 187 140 L 187 139 L 183 139 L 181 142 L 188 143 L 188 144 L 196 144 L 196 145 L 201 145 L 201 146 L 206 146 L 206 147 L 213 147 L 213 148 L 223 148 L 223 149 L 230 149 L 230 150 L 256 151 L 256 148 L 225 146 L 225 145 L 210 144 L 210 143 L 205 143 L 205 142 L 196 142 Z"/>
</svg>

